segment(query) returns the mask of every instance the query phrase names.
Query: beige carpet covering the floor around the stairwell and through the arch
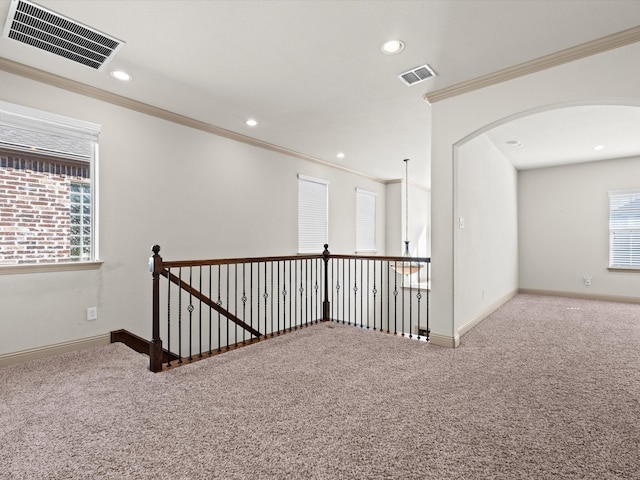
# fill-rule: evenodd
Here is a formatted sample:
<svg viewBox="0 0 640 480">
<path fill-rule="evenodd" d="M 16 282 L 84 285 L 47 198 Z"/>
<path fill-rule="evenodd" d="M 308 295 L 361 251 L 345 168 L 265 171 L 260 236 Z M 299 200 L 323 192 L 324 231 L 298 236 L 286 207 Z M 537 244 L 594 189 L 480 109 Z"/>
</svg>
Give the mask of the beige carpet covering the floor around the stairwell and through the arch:
<svg viewBox="0 0 640 480">
<path fill-rule="evenodd" d="M 147 367 L 0 369 L 0 478 L 640 478 L 639 305 L 519 295 L 456 350 L 321 324 Z"/>
</svg>

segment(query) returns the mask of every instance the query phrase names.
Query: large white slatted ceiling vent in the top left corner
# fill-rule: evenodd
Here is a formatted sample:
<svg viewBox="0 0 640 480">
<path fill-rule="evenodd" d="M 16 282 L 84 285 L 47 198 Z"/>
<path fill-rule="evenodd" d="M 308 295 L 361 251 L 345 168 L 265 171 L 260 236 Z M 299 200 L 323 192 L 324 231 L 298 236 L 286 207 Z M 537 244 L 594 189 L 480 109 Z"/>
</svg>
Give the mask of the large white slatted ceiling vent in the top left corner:
<svg viewBox="0 0 640 480">
<path fill-rule="evenodd" d="M 11 0 L 2 34 L 96 70 L 124 42 L 26 0 Z"/>
</svg>

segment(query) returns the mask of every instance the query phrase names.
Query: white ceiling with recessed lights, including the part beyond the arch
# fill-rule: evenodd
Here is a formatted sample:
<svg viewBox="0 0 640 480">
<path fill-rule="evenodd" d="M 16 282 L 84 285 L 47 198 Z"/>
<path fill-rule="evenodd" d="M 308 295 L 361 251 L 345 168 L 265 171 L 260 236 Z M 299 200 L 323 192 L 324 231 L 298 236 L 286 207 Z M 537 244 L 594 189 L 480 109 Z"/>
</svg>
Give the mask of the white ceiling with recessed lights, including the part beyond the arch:
<svg viewBox="0 0 640 480">
<path fill-rule="evenodd" d="M 7 38 L 0 38 L 0 57 L 382 180 L 401 178 L 410 158 L 412 180 L 424 185 L 425 93 L 640 23 L 636 0 L 36 3 L 126 45 L 105 71 Z M 9 5 L 0 0 L 2 22 Z M 383 55 L 380 46 L 393 38 L 405 42 L 404 51 Z M 438 76 L 411 87 L 397 78 L 424 63 Z M 134 80 L 117 82 L 108 73 L 115 68 Z M 4 97 L 0 89 L 10 100 Z M 585 159 L 596 138 L 605 145 L 602 158 L 612 145 L 640 152 L 626 143 L 633 135 L 622 135 L 640 131 L 636 109 L 584 109 L 540 113 L 487 136 L 522 168 Z M 247 127 L 248 117 L 260 124 Z M 523 146 L 507 149 L 513 139 Z"/>
</svg>

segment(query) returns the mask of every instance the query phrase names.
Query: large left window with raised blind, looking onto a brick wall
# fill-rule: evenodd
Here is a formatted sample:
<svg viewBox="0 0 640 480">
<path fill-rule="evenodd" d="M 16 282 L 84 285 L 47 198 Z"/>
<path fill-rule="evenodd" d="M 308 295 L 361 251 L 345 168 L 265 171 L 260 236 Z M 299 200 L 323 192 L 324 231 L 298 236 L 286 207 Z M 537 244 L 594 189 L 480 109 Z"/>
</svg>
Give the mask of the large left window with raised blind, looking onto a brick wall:
<svg viewBox="0 0 640 480">
<path fill-rule="evenodd" d="M 0 102 L 0 265 L 96 259 L 99 128 Z"/>
</svg>

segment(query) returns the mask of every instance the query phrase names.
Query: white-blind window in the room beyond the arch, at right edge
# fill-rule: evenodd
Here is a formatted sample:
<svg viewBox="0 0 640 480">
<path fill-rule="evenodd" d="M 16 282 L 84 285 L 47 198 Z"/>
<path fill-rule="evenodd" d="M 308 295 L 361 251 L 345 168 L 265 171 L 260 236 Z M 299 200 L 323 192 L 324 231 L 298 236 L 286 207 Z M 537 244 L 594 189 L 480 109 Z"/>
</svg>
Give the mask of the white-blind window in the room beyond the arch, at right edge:
<svg viewBox="0 0 640 480">
<path fill-rule="evenodd" d="M 609 267 L 640 268 L 640 190 L 609 192 Z"/>
</svg>

